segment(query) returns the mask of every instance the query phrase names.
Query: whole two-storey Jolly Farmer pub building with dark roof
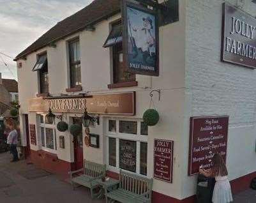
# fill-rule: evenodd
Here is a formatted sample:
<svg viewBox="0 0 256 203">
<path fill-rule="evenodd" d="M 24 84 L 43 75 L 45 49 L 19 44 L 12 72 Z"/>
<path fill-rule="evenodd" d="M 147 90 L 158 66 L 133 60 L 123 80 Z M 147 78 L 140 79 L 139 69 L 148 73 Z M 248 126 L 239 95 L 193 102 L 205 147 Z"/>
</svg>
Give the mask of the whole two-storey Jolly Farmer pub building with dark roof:
<svg viewBox="0 0 256 203">
<path fill-rule="evenodd" d="M 195 202 L 199 167 L 220 153 L 232 192 L 245 190 L 256 176 L 255 11 L 251 0 L 95 0 L 58 22 L 15 58 L 28 162 L 63 178 L 101 163 L 109 177 L 153 178 L 152 202 Z"/>
</svg>

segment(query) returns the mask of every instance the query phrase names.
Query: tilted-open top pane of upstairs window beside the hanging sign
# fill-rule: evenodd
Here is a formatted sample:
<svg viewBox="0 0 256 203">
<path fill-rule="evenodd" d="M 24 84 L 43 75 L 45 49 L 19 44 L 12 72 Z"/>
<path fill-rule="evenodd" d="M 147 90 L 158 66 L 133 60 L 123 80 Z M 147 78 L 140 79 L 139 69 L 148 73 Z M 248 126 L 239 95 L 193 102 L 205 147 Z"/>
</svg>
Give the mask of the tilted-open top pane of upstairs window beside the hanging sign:
<svg viewBox="0 0 256 203">
<path fill-rule="evenodd" d="M 103 47 L 110 47 L 112 45 L 115 45 L 116 43 L 119 43 L 123 40 L 122 36 L 122 24 L 118 24 L 116 26 L 112 27 L 111 32 L 109 33 L 109 36 L 107 37 L 107 40 L 105 41 Z"/>
</svg>

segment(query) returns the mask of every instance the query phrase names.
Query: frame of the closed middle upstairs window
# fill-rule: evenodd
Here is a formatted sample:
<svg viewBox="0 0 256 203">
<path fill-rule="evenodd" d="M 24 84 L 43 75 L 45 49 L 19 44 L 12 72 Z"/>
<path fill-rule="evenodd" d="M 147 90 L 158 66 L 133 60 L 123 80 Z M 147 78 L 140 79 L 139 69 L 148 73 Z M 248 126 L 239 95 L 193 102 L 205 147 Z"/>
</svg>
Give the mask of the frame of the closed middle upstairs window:
<svg viewBox="0 0 256 203">
<path fill-rule="evenodd" d="M 71 45 L 72 43 L 77 43 L 79 42 L 79 61 L 72 61 L 72 49 L 71 49 Z M 76 38 L 73 38 L 72 40 L 68 41 L 68 62 L 69 62 L 69 87 L 70 88 L 75 88 L 75 87 L 79 87 L 82 85 L 82 73 L 81 73 L 81 49 L 80 49 L 80 39 L 79 36 Z M 76 81 L 72 80 L 72 66 L 80 66 L 80 81 L 78 81 L 78 79 L 76 79 Z M 78 82 L 79 84 L 75 84 L 73 82 Z"/>
</svg>

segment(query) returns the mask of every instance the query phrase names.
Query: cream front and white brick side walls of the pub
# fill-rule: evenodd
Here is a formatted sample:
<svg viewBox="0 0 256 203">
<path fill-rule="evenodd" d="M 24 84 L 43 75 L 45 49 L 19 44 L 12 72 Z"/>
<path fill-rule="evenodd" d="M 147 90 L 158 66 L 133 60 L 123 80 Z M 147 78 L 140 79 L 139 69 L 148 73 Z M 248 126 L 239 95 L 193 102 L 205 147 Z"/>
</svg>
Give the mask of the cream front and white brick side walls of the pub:
<svg viewBox="0 0 256 203">
<path fill-rule="evenodd" d="M 229 0 L 236 4 L 236 0 Z M 153 139 L 174 140 L 174 179 L 165 183 L 154 179 L 153 190 L 184 199 L 195 194 L 196 176 L 188 177 L 189 119 L 191 116 L 229 115 L 227 165 L 230 179 L 253 172 L 255 162 L 255 70 L 220 62 L 222 0 L 179 1 L 179 22 L 160 27 L 160 77 L 137 75 L 138 87 L 107 89 L 110 84 L 110 52 L 102 45 L 109 34 L 109 23 L 116 15 L 96 25 L 96 31 L 82 31 L 27 56 L 18 70 L 22 114 L 27 113 L 27 99 L 38 92 L 38 79 L 31 69 L 36 54 L 47 50 L 50 93 L 66 93 L 68 87 L 67 40 L 79 36 L 81 47 L 82 92 L 89 94 L 136 91 L 137 114 L 142 118 L 149 107 L 149 92 L 161 89 L 161 101 L 154 96 L 160 122 L 149 128 L 148 176 L 153 176 Z M 256 15 L 256 5 L 245 0 L 245 11 Z M 19 63 L 19 61 L 18 61 Z M 70 94 L 70 93 L 69 93 Z M 68 115 L 70 116 L 70 115 Z M 79 116 L 79 115 L 77 115 Z M 84 147 L 84 157 L 105 163 L 103 117 L 91 128 L 100 135 L 100 149 Z M 34 123 L 29 114 L 29 122 Z M 57 151 L 59 158 L 73 161 L 72 135 L 66 135 L 66 149 Z M 58 139 L 57 139 L 58 140 Z M 36 148 L 35 148 L 36 149 Z"/>
</svg>

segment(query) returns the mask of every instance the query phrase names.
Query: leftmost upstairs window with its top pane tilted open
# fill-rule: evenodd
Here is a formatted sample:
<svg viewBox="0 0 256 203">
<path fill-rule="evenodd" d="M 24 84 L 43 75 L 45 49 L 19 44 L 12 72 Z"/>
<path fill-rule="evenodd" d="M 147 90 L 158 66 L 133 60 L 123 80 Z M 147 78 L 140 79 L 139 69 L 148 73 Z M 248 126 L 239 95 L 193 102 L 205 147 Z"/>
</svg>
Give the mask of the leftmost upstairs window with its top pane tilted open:
<svg viewBox="0 0 256 203">
<path fill-rule="evenodd" d="M 47 54 L 41 54 L 38 56 L 38 61 L 34 65 L 32 71 L 39 72 L 40 93 L 49 93 Z"/>
</svg>

